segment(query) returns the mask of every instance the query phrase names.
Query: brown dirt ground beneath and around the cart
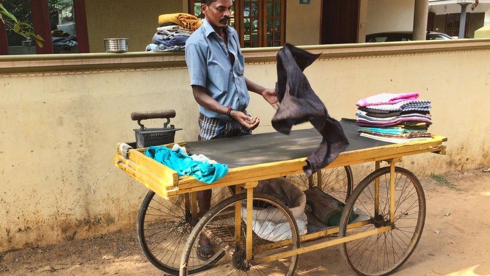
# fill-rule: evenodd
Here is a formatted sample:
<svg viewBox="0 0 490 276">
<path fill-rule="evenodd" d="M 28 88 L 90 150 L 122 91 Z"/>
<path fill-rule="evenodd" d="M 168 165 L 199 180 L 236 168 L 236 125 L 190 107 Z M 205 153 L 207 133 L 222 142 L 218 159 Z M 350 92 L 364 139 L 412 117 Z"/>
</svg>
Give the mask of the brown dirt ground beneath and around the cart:
<svg viewBox="0 0 490 276">
<path fill-rule="evenodd" d="M 490 172 L 458 171 L 420 180 L 427 200 L 425 228 L 397 274 L 490 275 Z M 300 255 L 296 271 L 352 275 L 337 247 Z M 0 275 L 31 274 L 164 275 L 144 257 L 136 230 L 0 253 Z"/>
</svg>

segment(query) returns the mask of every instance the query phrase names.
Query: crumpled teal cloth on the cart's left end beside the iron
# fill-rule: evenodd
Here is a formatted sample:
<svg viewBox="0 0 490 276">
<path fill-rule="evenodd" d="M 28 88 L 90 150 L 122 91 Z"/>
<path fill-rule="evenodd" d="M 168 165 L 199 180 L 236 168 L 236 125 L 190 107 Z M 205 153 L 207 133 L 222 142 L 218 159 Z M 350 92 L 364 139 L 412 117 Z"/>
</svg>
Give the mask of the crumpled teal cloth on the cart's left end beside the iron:
<svg viewBox="0 0 490 276">
<path fill-rule="evenodd" d="M 182 151 L 163 146 L 149 147 L 145 155 L 177 171 L 179 176 L 191 175 L 197 180 L 212 183 L 228 174 L 228 166 L 207 161 L 196 161 Z"/>
</svg>

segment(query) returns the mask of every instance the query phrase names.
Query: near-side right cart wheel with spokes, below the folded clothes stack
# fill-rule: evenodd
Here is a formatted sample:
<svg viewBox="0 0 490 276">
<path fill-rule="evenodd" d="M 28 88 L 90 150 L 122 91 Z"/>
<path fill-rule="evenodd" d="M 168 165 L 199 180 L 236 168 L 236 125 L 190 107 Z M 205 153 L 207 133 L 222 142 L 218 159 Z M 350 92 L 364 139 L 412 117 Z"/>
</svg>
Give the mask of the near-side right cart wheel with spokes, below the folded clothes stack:
<svg viewBox="0 0 490 276">
<path fill-rule="evenodd" d="M 375 215 L 375 179 L 379 178 L 379 214 Z M 340 218 L 339 237 L 373 230 L 390 223 L 390 167 L 366 176 L 354 189 Z M 350 214 L 369 224 L 346 231 Z M 419 179 L 395 167 L 394 229 L 340 244 L 349 267 L 359 275 L 387 275 L 398 269 L 419 242 L 425 222 L 425 196 Z"/>
</svg>

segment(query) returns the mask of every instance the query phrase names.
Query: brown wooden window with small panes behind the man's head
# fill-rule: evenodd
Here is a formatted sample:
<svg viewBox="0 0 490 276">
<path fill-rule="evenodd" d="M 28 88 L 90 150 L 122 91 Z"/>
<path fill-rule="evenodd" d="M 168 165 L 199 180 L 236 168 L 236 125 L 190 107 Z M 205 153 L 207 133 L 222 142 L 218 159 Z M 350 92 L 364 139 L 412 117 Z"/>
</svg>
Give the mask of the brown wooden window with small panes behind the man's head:
<svg viewBox="0 0 490 276">
<path fill-rule="evenodd" d="M 189 14 L 203 18 L 201 2 L 189 1 Z M 241 47 L 281 46 L 286 41 L 285 0 L 236 0 L 230 26 L 240 37 Z"/>
</svg>

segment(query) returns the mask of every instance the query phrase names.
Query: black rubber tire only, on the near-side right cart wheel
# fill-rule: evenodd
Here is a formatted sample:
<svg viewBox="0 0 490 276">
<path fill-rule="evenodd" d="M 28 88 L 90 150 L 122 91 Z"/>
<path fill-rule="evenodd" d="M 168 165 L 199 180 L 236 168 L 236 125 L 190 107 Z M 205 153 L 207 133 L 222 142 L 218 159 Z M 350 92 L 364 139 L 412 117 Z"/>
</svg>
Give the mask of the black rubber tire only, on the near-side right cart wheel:
<svg viewBox="0 0 490 276">
<path fill-rule="evenodd" d="M 342 216 L 340 218 L 340 226 L 339 226 L 339 238 L 345 237 L 346 230 L 347 230 L 347 224 L 348 224 L 348 219 L 350 215 L 350 210 L 354 207 L 354 204 L 359 197 L 359 195 L 362 193 L 364 188 L 368 186 L 370 183 L 372 183 L 376 178 L 380 177 L 381 175 L 384 175 L 386 173 L 390 173 L 390 167 L 383 167 L 375 170 L 374 172 L 370 173 L 368 176 L 366 176 L 362 181 L 360 181 L 359 185 L 354 189 L 352 192 L 351 196 L 347 200 L 344 211 L 342 212 Z M 416 231 L 414 232 L 414 235 L 412 237 L 412 240 L 410 241 L 410 244 L 408 245 L 408 250 L 405 251 L 405 254 L 401 260 L 399 260 L 396 264 L 394 264 L 393 267 L 390 267 L 389 269 L 382 271 L 381 273 L 376 273 L 376 274 L 366 274 L 362 271 L 359 271 L 350 261 L 349 256 L 347 254 L 347 247 L 345 243 L 342 243 L 339 245 L 339 250 L 344 257 L 344 259 L 347 261 L 347 264 L 349 268 L 354 271 L 358 275 L 365 275 L 365 276 L 382 276 L 382 275 L 389 275 L 395 272 L 398 268 L 400 268 L 412 255 L 413 251 L 417 247 L 417 244 L 420 240 L 420 237 L 422 235 L 422 232 L 424 230 L 424 224 L 425 224 L 425 212 L 426 212 L 426 202 L 425 202 L 425 194 L 424 190 L 422 188 L 422 185 L 417 178 L 411 171 L 401 168 L 401 167 L 395 167 L 395 173 L 401 173 L 406 175 L 410 180 L 414 183 L 414 187 L 417 192 L 417 197 L 419 201 L 419 215 L 417 218 L 417 226 L 416 226 Z M 396 203 L 395 203 L 396 204 Z M 396 224 L 395 224 L 396 225 Z M 368 267 L 369 268 L 369 267 Z"/>
</svg>

